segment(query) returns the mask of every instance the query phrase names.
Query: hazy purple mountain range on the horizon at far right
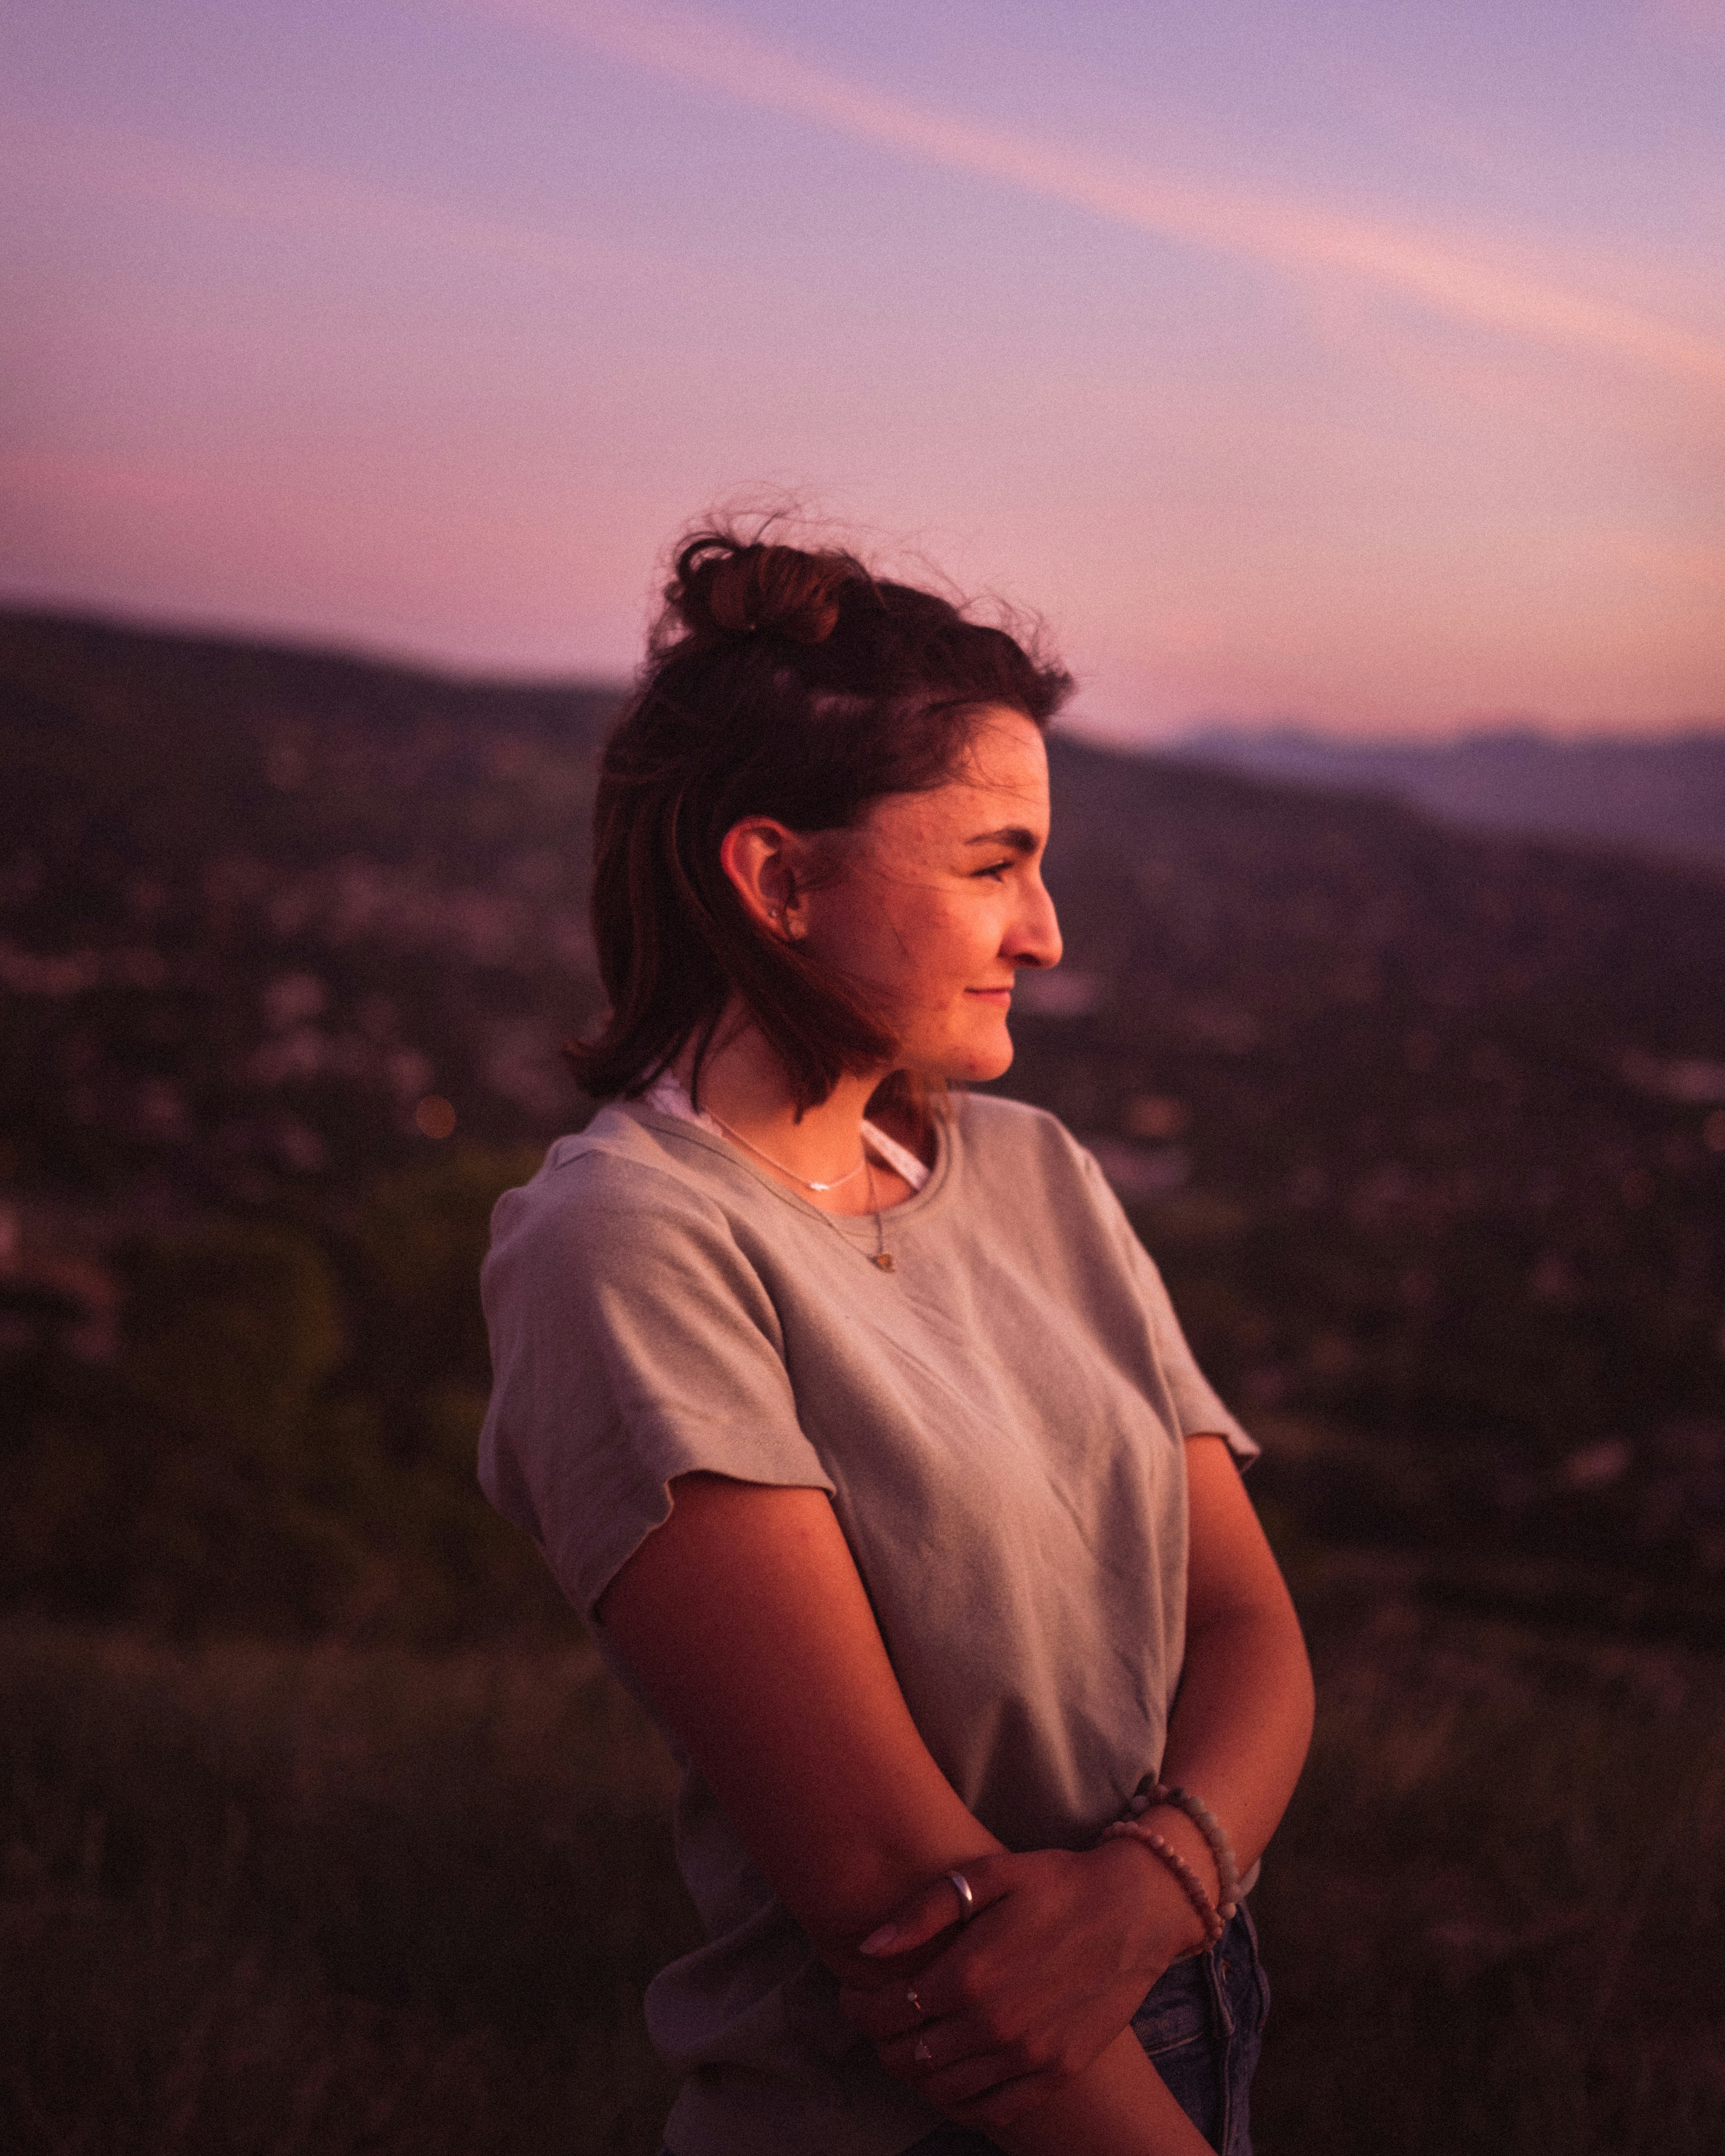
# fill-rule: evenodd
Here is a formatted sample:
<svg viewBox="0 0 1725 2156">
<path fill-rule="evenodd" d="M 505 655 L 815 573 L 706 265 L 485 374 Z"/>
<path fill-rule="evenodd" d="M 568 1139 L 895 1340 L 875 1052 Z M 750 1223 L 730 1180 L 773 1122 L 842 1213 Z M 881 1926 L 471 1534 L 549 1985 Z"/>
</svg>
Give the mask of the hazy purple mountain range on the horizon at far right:
<svg viewBox="0 0 1725 2156">
<path fill-rule="evenodd" d="M 1660 740 L 1559 742 L 1509 729 L 1430 746 L 1208 727 L 1177 752 L 1259 778 L 1395 793 L 1479 830 L 1725 862 L 1725 720 Z"/>
</svg>

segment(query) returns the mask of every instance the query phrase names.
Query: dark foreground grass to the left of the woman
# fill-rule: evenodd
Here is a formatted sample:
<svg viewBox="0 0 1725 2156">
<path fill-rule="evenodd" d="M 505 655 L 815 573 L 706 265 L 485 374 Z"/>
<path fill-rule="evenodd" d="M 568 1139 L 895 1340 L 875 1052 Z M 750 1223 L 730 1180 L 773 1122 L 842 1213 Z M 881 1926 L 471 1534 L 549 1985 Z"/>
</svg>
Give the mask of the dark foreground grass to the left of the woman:
<svg viewBox="0 0 1725 2156">
<path fill-rule="evenodd" d="M 2 1645 L 0 2147 L 658 2150 L 694 1925 L 591 1649 Z"/>
</svg>

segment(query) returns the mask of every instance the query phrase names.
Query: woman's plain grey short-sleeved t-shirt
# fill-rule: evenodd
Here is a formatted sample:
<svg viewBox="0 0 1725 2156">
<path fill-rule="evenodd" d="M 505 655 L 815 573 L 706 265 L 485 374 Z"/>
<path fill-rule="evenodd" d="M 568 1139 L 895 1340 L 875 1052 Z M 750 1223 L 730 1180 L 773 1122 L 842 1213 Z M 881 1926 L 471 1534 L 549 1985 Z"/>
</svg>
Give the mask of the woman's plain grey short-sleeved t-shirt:
<svg viewBox="0 0 1725 2156">
<path fill-rule="evenodd" d="M 1158 1766 L 1186 1617 L 1182 1438 L 1223 1408 L 1091 1156 L 962 1095 L 925 1188 L 875 1220 L 804 1203 L 636 1104 L 558 1138 L 492 1222 L 481 1483 L 636 1692 L 593 1606 L 707 1470 L 826 1490 L 910 1714 L 1007 1848 L 1087 1848 Z M 647 1701 L 651 1708 L 651 1701 Z M 895 2156 L 936 2115 L 701 1777 L 677 1856 L 709 1945 L 649 1988 L 677 2156 Z"/>
</svg>

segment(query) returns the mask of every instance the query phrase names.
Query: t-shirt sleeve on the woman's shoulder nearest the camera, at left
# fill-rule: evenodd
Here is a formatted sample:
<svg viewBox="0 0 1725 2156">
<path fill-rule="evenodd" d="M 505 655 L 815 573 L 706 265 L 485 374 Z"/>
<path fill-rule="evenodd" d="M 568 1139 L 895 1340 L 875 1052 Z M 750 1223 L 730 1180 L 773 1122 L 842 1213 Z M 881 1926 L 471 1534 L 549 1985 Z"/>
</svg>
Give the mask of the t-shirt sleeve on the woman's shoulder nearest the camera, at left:
<svg viewBox="0 0 1725 2156">
<path fill-rule="evenodd" d="M 479 1479 L 582 1617 L 668 1518 L 673 1477 L 832 1492 L 772 1298 L 720 1207 L 664 1171 L 558 1149 L 498 1201 L 481 1294 Z"/>
</svg>

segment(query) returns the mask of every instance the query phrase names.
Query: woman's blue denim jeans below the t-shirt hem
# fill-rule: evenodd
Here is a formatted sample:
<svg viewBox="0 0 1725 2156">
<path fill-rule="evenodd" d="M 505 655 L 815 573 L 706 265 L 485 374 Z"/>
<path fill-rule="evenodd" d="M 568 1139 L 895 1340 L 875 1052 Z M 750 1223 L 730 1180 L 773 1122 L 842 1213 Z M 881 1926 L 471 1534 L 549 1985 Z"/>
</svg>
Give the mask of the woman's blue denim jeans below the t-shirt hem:
<svg viewBox="0 0 1725 2156">
<path fill-rule="evenodd" d="M 1132 2016 L 1132 2035 L 1216 2156 L 1253 2156 L 1251 2085 L 1268 2012 L 1270 1984 L 1242 1902 L 1210 1953 L 1175 1962 Z M 970 2126 L 936 2126 L 903 2156 L 1000 2156 L 1000 2147 Z"/>
</svg>

